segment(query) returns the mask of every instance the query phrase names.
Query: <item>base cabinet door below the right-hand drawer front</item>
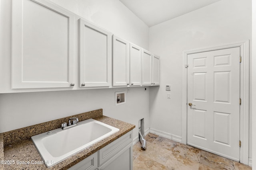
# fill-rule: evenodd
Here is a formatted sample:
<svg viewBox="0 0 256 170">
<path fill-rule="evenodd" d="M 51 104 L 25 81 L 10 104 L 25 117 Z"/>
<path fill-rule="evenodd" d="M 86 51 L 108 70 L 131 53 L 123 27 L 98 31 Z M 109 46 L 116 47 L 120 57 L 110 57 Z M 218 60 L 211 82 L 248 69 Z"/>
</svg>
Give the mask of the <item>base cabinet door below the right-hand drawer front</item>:
<svg viewBox="0 0 256 170">
<path fill-rule="evenodd" d="M 99 167 L 99 170 L 132 170 L 132 143 Z"/>
</svg>

